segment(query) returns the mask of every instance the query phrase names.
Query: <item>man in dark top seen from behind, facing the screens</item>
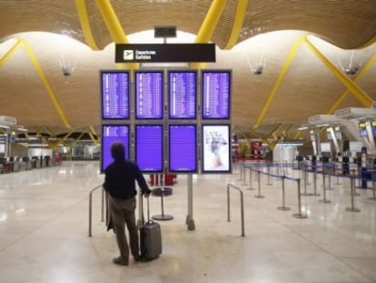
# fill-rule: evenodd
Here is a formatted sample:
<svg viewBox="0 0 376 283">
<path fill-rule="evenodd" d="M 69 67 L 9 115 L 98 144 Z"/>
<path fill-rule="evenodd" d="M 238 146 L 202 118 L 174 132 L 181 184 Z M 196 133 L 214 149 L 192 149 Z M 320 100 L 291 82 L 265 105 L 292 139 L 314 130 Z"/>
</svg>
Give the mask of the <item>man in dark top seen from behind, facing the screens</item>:
<svg viewBox="0 0 376 283">
<path fill-rule="evenodd" d="M 114 162 L 104 170 L 104 189 L 109 193 L 111 220 L 120 251 L 120 257 L 114 258 L 113 262 L 127 266 L 129 248 L 125 236 L 125 223 L 129 231 L 132 255 L 135 261 L 140 261 L 138 230 L 134 216 L 137 194 L 135 180 L 141 187 L 143 196 L 149 197 L 151 190 L 137 164 L 125 159 L 123 143 L 115 142 L 111 146 L 111 156 Z"/>
</svg>

